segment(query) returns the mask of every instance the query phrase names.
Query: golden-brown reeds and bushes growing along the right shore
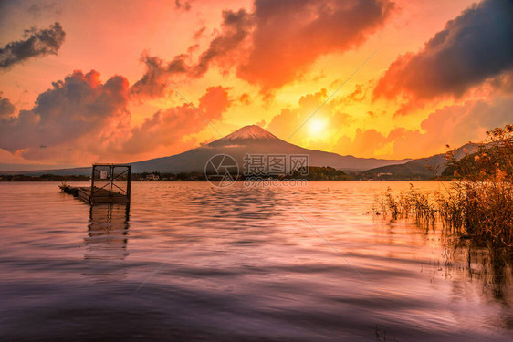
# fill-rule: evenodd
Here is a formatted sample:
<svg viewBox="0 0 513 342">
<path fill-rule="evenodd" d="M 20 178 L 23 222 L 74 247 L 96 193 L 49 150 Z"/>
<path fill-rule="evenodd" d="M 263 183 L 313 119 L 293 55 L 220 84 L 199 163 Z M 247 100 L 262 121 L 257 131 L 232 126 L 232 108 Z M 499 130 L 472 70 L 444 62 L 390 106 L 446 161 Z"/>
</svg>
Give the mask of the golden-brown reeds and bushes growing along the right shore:
<svg viewBox="0 0 513 342">
<path fill-rule="evenodd" d="M 451 150 L 447 160 L 442 180 L 454 182 L 444 192 L 389 188 L 376 198 L 374 212 L 428 226 L 440 222 L 448 234 L 513 256 L 513 125 L 488 131 L 476 153 L 456 160 Z"/>
</svg>

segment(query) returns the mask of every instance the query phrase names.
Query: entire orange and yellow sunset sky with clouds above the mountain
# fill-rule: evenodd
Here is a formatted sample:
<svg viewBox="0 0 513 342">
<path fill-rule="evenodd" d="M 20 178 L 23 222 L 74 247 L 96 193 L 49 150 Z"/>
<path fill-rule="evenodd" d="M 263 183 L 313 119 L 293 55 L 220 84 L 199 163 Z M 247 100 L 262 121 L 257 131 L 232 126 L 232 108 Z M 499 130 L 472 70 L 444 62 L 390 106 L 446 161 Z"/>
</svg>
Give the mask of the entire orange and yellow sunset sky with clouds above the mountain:
<svg viewBox="0 0 513 342">
<path fill-rule="evenodd" d="M 340 86 L 289 142 L 419 158 L 513 122 L 510 0 L 0 4 L 0 171 L 219 138 L 143 59 L 222 135 L 287 140 Z"/>
</svg>

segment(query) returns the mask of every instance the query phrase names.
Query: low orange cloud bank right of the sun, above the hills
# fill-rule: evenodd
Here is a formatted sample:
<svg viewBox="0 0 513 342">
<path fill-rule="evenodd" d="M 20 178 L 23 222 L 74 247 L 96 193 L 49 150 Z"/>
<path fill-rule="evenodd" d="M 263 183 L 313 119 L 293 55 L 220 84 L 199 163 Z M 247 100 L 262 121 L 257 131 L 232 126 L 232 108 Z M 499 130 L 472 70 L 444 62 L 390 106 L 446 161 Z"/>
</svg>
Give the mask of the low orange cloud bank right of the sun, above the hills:
<svg viewBox="0 0 513 342">
<path fill-rule="evenodd" d="M 353 139 L 342 136 L 333 151 L 362 157 L 409 158 L 420 150 L 429 156 L 445 151 L 446 144 L 459 147 L 470 140 L 477 142 L 487 130 L 511 124 L 512 108 L 511 96 L 445 106 L 424 119 L 421 130 L 396 128 L 382 134 L 377 130 L 358 129 Z"/>
</svg>

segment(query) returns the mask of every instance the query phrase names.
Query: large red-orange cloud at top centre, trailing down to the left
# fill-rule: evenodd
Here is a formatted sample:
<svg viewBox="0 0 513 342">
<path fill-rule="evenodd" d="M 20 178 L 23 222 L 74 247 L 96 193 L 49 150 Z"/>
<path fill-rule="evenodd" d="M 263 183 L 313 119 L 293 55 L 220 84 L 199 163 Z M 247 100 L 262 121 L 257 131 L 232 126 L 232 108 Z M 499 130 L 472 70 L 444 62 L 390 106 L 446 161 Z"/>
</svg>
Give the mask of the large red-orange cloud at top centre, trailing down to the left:
<svg viewBox="0 0 513 342">
<path fill-rule="evenodd" d="M 162 75 L 199 78 L 212 66 L 235 68 L 238 77 L 278 88 L 298 77 L 317 57 L 360 45 L 390 15 L 389 0 L 256 0 L 255 11 L 224 11 L 220 33 L 189 65 L 190 51 L 165 63 L 147 57 Z M 165 84 L 152 67 L 133 87 L 141 96 L 162 96 Z"/>
</svg>

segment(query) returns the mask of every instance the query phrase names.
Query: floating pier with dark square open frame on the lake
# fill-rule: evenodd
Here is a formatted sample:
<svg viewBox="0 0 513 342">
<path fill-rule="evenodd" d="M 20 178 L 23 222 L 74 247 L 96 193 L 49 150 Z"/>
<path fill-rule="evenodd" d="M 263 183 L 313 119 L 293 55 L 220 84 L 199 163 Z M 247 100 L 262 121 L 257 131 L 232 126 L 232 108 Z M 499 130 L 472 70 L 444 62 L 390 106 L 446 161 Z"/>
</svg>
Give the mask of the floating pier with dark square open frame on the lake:
<svg viewBox="0 0 513 342">
<path fill-rule="evenodd" d="M 94 164 L 91 186 L 61 186 L 63 192 L 72 194 L 89 204 L 129 203 L 131 196 L 131 165 Z"/>
</svg>

